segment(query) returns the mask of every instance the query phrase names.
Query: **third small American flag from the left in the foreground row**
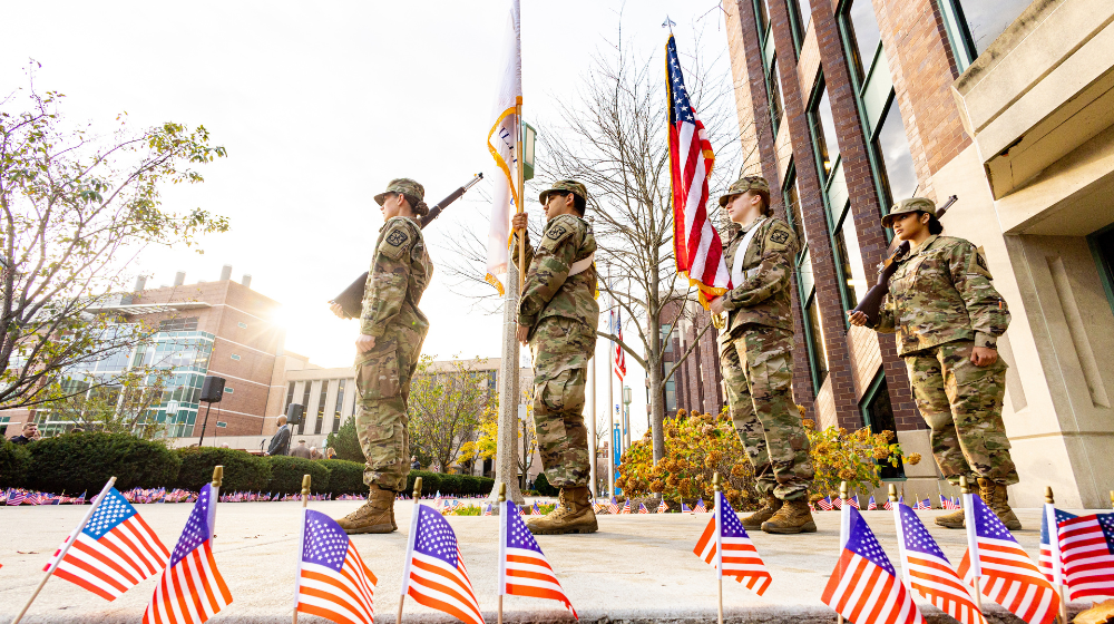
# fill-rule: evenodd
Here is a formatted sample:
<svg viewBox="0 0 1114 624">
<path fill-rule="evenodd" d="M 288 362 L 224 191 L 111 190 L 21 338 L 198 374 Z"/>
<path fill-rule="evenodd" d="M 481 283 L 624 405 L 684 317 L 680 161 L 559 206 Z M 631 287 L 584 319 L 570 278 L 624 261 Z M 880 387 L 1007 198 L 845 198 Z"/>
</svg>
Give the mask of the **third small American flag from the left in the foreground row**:
<svg viewBox="0 0 1114 624">
<path fill-rule="evenodd" d="M 294 608 L 338 624 L 371 624 L 375 575 L 332 518 L 305 509 Z"/>
</svg>

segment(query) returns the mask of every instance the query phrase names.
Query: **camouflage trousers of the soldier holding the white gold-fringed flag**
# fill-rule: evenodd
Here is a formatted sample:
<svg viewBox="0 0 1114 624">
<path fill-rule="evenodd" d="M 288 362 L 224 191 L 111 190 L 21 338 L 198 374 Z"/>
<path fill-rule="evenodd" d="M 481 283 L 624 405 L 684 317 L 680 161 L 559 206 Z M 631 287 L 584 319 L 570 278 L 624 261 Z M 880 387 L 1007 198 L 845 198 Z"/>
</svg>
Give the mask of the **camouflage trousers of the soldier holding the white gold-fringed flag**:
<svg viewBox="0 0 1114 624">
<path fill-rule="evenodd" d="M 538 454 L 546 479 L 557 488 L 588 485 L 584 389 L 595 349 L 595 330 L 571 319 L 544 319 L 530 337 Z"/>
</svg>

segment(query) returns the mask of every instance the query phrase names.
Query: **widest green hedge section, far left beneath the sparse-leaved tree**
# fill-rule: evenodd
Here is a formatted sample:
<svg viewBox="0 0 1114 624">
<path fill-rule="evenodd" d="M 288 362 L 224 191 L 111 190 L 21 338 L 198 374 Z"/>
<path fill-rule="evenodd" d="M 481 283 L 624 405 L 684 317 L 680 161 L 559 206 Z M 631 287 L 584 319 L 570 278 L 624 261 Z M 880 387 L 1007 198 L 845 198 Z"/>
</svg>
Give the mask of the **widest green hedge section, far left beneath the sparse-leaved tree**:
<svg viewBox="0 0 1114 624">
<path fill-rule="evenodd" d="M 27 485 L 49 493 L 99 493 L 109 478 L 116 489 L 173 487 L 182 459 L 159 442 L 128 433 L 81 432 L 27 445 L 31 470 Z"/>
</svg>

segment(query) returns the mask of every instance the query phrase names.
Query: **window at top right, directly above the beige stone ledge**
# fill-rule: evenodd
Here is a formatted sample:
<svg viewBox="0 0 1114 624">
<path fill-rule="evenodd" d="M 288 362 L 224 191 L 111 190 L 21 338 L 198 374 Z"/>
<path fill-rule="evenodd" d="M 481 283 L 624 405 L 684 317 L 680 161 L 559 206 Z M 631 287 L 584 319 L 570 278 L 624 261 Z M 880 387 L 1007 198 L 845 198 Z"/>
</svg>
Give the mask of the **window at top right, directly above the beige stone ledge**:
<svg viewBox="0 0 1114 624">
<path fill-rule="evenodd" d="M 964 71 L 1005 32 L 1033 0 L 938 0 L 944 23 Z"/>
</svg>

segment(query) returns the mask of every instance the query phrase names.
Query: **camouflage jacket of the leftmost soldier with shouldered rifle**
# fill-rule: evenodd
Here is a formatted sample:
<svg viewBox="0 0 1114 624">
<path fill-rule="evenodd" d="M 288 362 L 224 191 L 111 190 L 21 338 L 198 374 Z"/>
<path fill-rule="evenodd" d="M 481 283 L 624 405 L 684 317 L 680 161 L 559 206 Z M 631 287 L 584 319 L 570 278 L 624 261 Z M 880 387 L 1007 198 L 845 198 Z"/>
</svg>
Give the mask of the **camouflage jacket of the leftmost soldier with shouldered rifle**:
<svg viewBox="0 0 1114 624">
<path fill-rule="evenodd" d="M 421 335 L 429 321 L 418 302 L 433 276 L 421 228 L 412 218 L 395 216 L 379 230 L 375 257 L 363 289 L 360 331 L 381 338 L 392 326 L 410 328 Z"/>
</svg>

